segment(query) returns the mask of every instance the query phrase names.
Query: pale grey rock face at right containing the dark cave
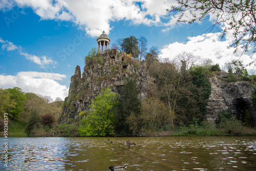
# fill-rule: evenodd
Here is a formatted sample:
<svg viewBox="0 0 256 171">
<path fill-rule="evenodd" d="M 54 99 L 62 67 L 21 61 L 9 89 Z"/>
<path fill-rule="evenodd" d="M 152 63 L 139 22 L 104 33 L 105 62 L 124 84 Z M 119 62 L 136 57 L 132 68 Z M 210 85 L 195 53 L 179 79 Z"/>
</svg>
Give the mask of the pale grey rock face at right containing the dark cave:
<svg viewBox="0 0 256 171">
<path fill-rule="evenodd" d="M 215 121 L 218 114 L 231 110 L 231 113 L 242 120 L 246 111 L 249 112 L 254 124 L 256 123 L 256 110 L 252 106 L 251 97 L 253 87 L 247 81 L 227 82 L 224 80 L 227 73 L 219 72 L 209 78 L 211 95 L 208 99 L 206 119 Z"/>
</svg>

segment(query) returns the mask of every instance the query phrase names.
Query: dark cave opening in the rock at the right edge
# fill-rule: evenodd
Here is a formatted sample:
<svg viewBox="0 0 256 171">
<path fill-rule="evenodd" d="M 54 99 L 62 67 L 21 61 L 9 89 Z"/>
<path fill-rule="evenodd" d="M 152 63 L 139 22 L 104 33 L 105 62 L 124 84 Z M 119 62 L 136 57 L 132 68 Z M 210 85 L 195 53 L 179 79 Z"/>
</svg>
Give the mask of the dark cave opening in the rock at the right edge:
<svg viewBox="0 0 256 171">
<path fill-rule="evenodd" d="M 237 98 L 233 102 L 233 113 L 236 115 L 237 119 L 241 120 L 246 126 L 253 127 L 254 120 L 249 109 L 249 102 L 243 98 Z"/>
</svg>

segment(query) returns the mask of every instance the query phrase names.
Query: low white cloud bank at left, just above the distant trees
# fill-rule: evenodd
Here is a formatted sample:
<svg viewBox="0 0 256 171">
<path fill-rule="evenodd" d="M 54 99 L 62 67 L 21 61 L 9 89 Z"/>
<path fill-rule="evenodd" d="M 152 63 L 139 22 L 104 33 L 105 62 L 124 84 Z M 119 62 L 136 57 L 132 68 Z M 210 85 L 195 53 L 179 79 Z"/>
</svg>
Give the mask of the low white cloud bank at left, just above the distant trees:
<svg viewBox="0 0 256 171">
<path fill-rule="evenodd" d="M 17 75 L 0 75 L 0 87 L 4 89 L 18 87 L 23 92 L 51 96 L 53 100 L 68 96 L 69 88 L 55 80 L 62 80 L 66 75 L 57 73 L 19 72 Z"/>
</svg>

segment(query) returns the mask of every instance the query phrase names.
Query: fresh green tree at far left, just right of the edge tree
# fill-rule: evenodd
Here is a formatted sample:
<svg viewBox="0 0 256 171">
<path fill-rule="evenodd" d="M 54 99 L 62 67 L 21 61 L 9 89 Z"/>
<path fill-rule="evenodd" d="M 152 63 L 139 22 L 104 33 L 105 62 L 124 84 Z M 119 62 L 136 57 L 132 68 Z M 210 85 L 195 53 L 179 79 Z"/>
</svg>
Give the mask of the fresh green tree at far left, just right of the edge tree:
<svg viewBox="0 0 256 171">
<path fill-rule="evenodd" d="M 7 89 L 10 93 L 10 98 L 15 101 L 15 108 L 12 109 L 12 117 L 17 118 L 18 115 L 24 111 L 24 106 L 27 101 L 26 94 L 22 92 L 22 89 L 14 87 L 13 89 Z"/>
</svg>

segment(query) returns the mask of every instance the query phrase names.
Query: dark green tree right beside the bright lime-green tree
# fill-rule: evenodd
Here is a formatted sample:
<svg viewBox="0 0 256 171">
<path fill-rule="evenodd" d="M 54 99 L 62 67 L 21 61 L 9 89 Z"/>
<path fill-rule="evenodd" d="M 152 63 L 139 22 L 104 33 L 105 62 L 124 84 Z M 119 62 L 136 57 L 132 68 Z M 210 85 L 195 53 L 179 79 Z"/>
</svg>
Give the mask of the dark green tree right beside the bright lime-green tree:
<svg viewBox="0 0 256 171">
<path fill-rule="evenodd" d="M 129 125 L 125 122 L 131 114 L 140 113 L 140 99 L 138 97 L 140 90 L 136 80 L 127 79 L 118 97 L 118 106 L 116 106 L 116 131 L 129 133 Z"/>
</svg>

